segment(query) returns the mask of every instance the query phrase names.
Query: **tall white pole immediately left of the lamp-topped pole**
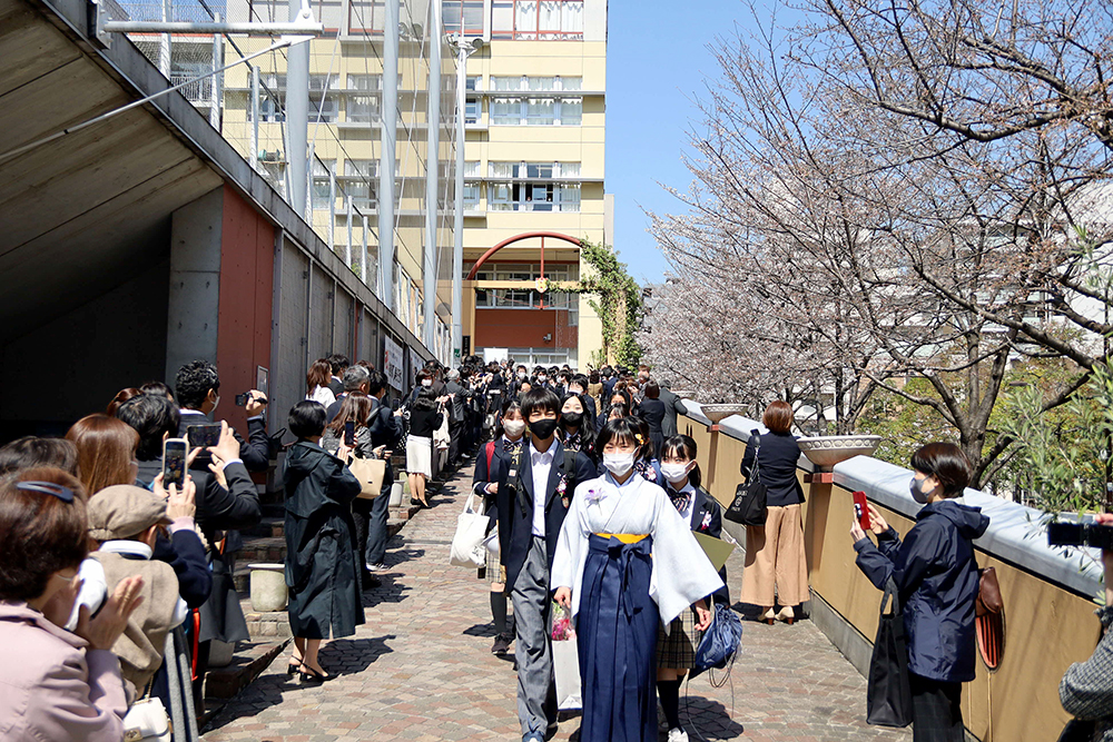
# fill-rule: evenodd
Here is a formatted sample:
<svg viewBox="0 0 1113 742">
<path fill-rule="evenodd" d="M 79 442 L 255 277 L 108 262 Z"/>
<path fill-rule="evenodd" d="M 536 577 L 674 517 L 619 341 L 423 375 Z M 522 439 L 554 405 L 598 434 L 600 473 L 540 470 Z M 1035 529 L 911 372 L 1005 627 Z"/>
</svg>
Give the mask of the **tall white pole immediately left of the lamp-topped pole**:
<svg viewBox="0 0 1113 742">
<path fill-rule="evenodd" d="M 422 339 L 436 353 L 436 191 L 441 156 L 441 3 L 431 2 L 429 24 L 429 99 L 425 116 L 425 268 L 422 271 L 425 295 Z"/>
</svg>

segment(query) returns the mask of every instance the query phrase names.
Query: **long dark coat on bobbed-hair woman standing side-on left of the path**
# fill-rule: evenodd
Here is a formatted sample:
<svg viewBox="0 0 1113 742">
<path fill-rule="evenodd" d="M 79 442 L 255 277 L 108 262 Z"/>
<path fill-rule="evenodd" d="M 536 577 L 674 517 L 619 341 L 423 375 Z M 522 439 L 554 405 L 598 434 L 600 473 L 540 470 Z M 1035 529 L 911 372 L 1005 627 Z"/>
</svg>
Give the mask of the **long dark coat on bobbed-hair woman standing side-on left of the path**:
<svg viewBox="0 0 1113 742">
<path fill-rule="evenodd" d="M 286 585 L 294 636 L 351 636 L 364 622 L 352 502 L 359 481 L 315 443 L 286 456 Z"/>
</svg>

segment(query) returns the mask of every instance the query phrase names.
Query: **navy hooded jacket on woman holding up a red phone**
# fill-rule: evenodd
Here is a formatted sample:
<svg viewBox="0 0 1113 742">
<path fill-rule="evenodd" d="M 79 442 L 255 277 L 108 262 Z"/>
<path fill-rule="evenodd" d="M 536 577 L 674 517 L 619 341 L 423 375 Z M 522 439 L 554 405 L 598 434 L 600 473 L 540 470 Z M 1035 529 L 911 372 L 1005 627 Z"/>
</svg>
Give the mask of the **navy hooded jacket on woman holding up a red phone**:
<svg viewBox="0 0 1113 742">
<path fill-rule="evenodd" d="M 854 545 L 857 564 L 878 590 L 892 576 L 908 634 L 908 670 L 944 682 L 974 680 L 974 602 L 978 592 L 972 541 L 989 518 L 952 499 L 925 505 L 902 543 L 889 528 Z"/>
</svg>

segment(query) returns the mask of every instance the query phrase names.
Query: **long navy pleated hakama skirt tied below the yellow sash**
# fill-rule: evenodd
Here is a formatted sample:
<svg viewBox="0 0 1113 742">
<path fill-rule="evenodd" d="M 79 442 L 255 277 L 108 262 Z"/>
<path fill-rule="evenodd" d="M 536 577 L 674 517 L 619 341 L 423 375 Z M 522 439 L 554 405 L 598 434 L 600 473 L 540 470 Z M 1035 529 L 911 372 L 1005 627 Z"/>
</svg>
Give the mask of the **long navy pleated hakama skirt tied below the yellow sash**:
<svg viewBox="0 0 1113 742">
<path fill-rule="evenodd" d="M 581 742 L 657 740 L 652 538 L 589 537 L 577 636 L 583 684 Z"/>
</svg>

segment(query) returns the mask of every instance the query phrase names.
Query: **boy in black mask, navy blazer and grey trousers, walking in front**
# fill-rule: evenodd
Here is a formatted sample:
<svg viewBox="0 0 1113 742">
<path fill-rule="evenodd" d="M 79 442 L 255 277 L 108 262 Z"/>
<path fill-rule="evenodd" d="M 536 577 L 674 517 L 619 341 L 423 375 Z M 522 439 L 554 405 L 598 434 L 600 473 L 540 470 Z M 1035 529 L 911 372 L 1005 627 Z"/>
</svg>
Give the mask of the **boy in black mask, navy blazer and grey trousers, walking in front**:
<svg viewBox="0 0 1113 742">
<path fill-rule="evenodd" d="M 551 389 L 522 395 L 530 439 L 499 477 L 496 507 L 502 565 L 514 607 L 518 716 L 523 742 L 556 732 L 556 686 L 549 635 L 550 570 L 572 492 L 594 478 L 591 461 L 556 439 L 560 399 Z"/>
</svg>

